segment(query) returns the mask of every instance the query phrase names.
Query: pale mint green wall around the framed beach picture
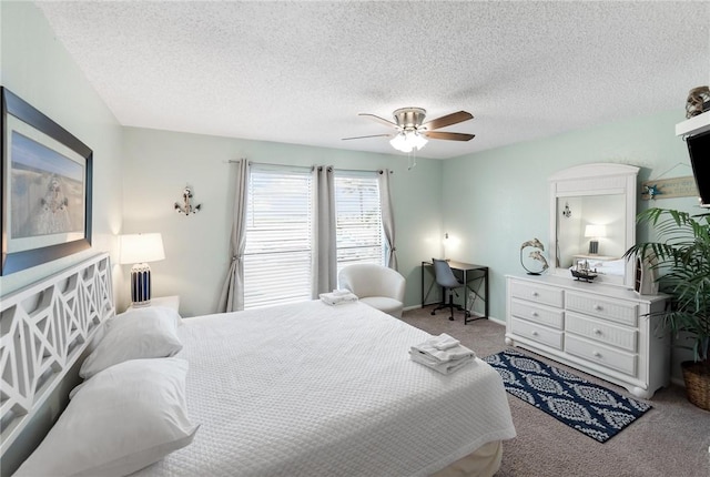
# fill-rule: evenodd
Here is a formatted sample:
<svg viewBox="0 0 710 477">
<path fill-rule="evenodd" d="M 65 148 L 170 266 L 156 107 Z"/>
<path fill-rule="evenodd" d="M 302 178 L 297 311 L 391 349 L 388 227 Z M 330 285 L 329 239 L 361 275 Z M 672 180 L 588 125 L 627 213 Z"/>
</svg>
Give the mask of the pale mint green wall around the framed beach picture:
<svg viewBox="0 0 710 477">
<path fill-rule="evenodd" d="M 0 2 L 0 27 L 2 85 L 91 148 L 94 168 L 92 248 L 0 277 L 4 295 L 98 252 L 115 250 L 122 209 L 122 130 L 33 3 Z"/>
</svg>

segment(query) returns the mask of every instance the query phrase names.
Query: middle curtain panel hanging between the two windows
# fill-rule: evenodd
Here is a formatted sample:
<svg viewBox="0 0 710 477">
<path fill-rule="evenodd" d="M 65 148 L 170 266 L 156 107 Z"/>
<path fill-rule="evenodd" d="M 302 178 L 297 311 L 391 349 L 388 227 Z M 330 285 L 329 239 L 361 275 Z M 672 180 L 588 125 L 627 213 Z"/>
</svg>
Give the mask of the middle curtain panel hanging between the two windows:
<svg viewBox="0 0 710 477">
<path fill-rule="evenodd" d="M 335 179 L 332 166 L 313 168 L 313 298 L 337 286 L 335 232 Z"/>
</svg>

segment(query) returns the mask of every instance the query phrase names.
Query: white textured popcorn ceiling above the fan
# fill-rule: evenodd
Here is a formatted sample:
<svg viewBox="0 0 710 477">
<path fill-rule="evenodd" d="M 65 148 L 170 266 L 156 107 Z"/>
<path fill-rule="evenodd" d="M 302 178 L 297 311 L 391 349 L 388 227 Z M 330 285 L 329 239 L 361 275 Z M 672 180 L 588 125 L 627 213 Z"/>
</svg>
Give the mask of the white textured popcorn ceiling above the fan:
<svg viewBox="0 0 710 477">
<path fill-rule="evenodd" d="M 445 159 L 682 109 L 710 2 L 38 2 L 121 124 L 393 153 L 392 118 L 475 119 Z M 672 131 L 669 131 L 672 134 Z"/>
</svg>

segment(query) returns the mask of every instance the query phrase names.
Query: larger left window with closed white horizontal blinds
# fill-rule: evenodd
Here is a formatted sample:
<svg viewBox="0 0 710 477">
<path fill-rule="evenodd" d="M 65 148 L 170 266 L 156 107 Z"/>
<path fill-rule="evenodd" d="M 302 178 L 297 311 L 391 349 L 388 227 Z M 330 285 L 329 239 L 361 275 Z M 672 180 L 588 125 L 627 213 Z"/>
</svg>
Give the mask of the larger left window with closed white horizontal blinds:
<svg viewBox="0 0 710 477">
<path fill-rule="evenodd" d="M 244 308 L 311 300 L 308 170 L 253 165 L 248 180 Z"/>
</svg>

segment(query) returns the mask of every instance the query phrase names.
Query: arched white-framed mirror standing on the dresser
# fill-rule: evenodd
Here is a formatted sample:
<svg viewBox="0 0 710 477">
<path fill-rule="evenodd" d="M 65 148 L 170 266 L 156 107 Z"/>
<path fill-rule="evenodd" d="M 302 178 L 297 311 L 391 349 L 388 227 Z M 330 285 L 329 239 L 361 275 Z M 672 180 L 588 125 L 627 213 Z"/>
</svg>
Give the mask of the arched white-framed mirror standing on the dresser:
<svg viewBox="0 0 710 477">
<path fill-rule="evenodd" d="M 633 262 L 623 253 L 636 242 L 636 180 L 625 164 L 585 164 L 550 177 L 550 270 L 592 282 L 633 287 Z"/>
</svg>

